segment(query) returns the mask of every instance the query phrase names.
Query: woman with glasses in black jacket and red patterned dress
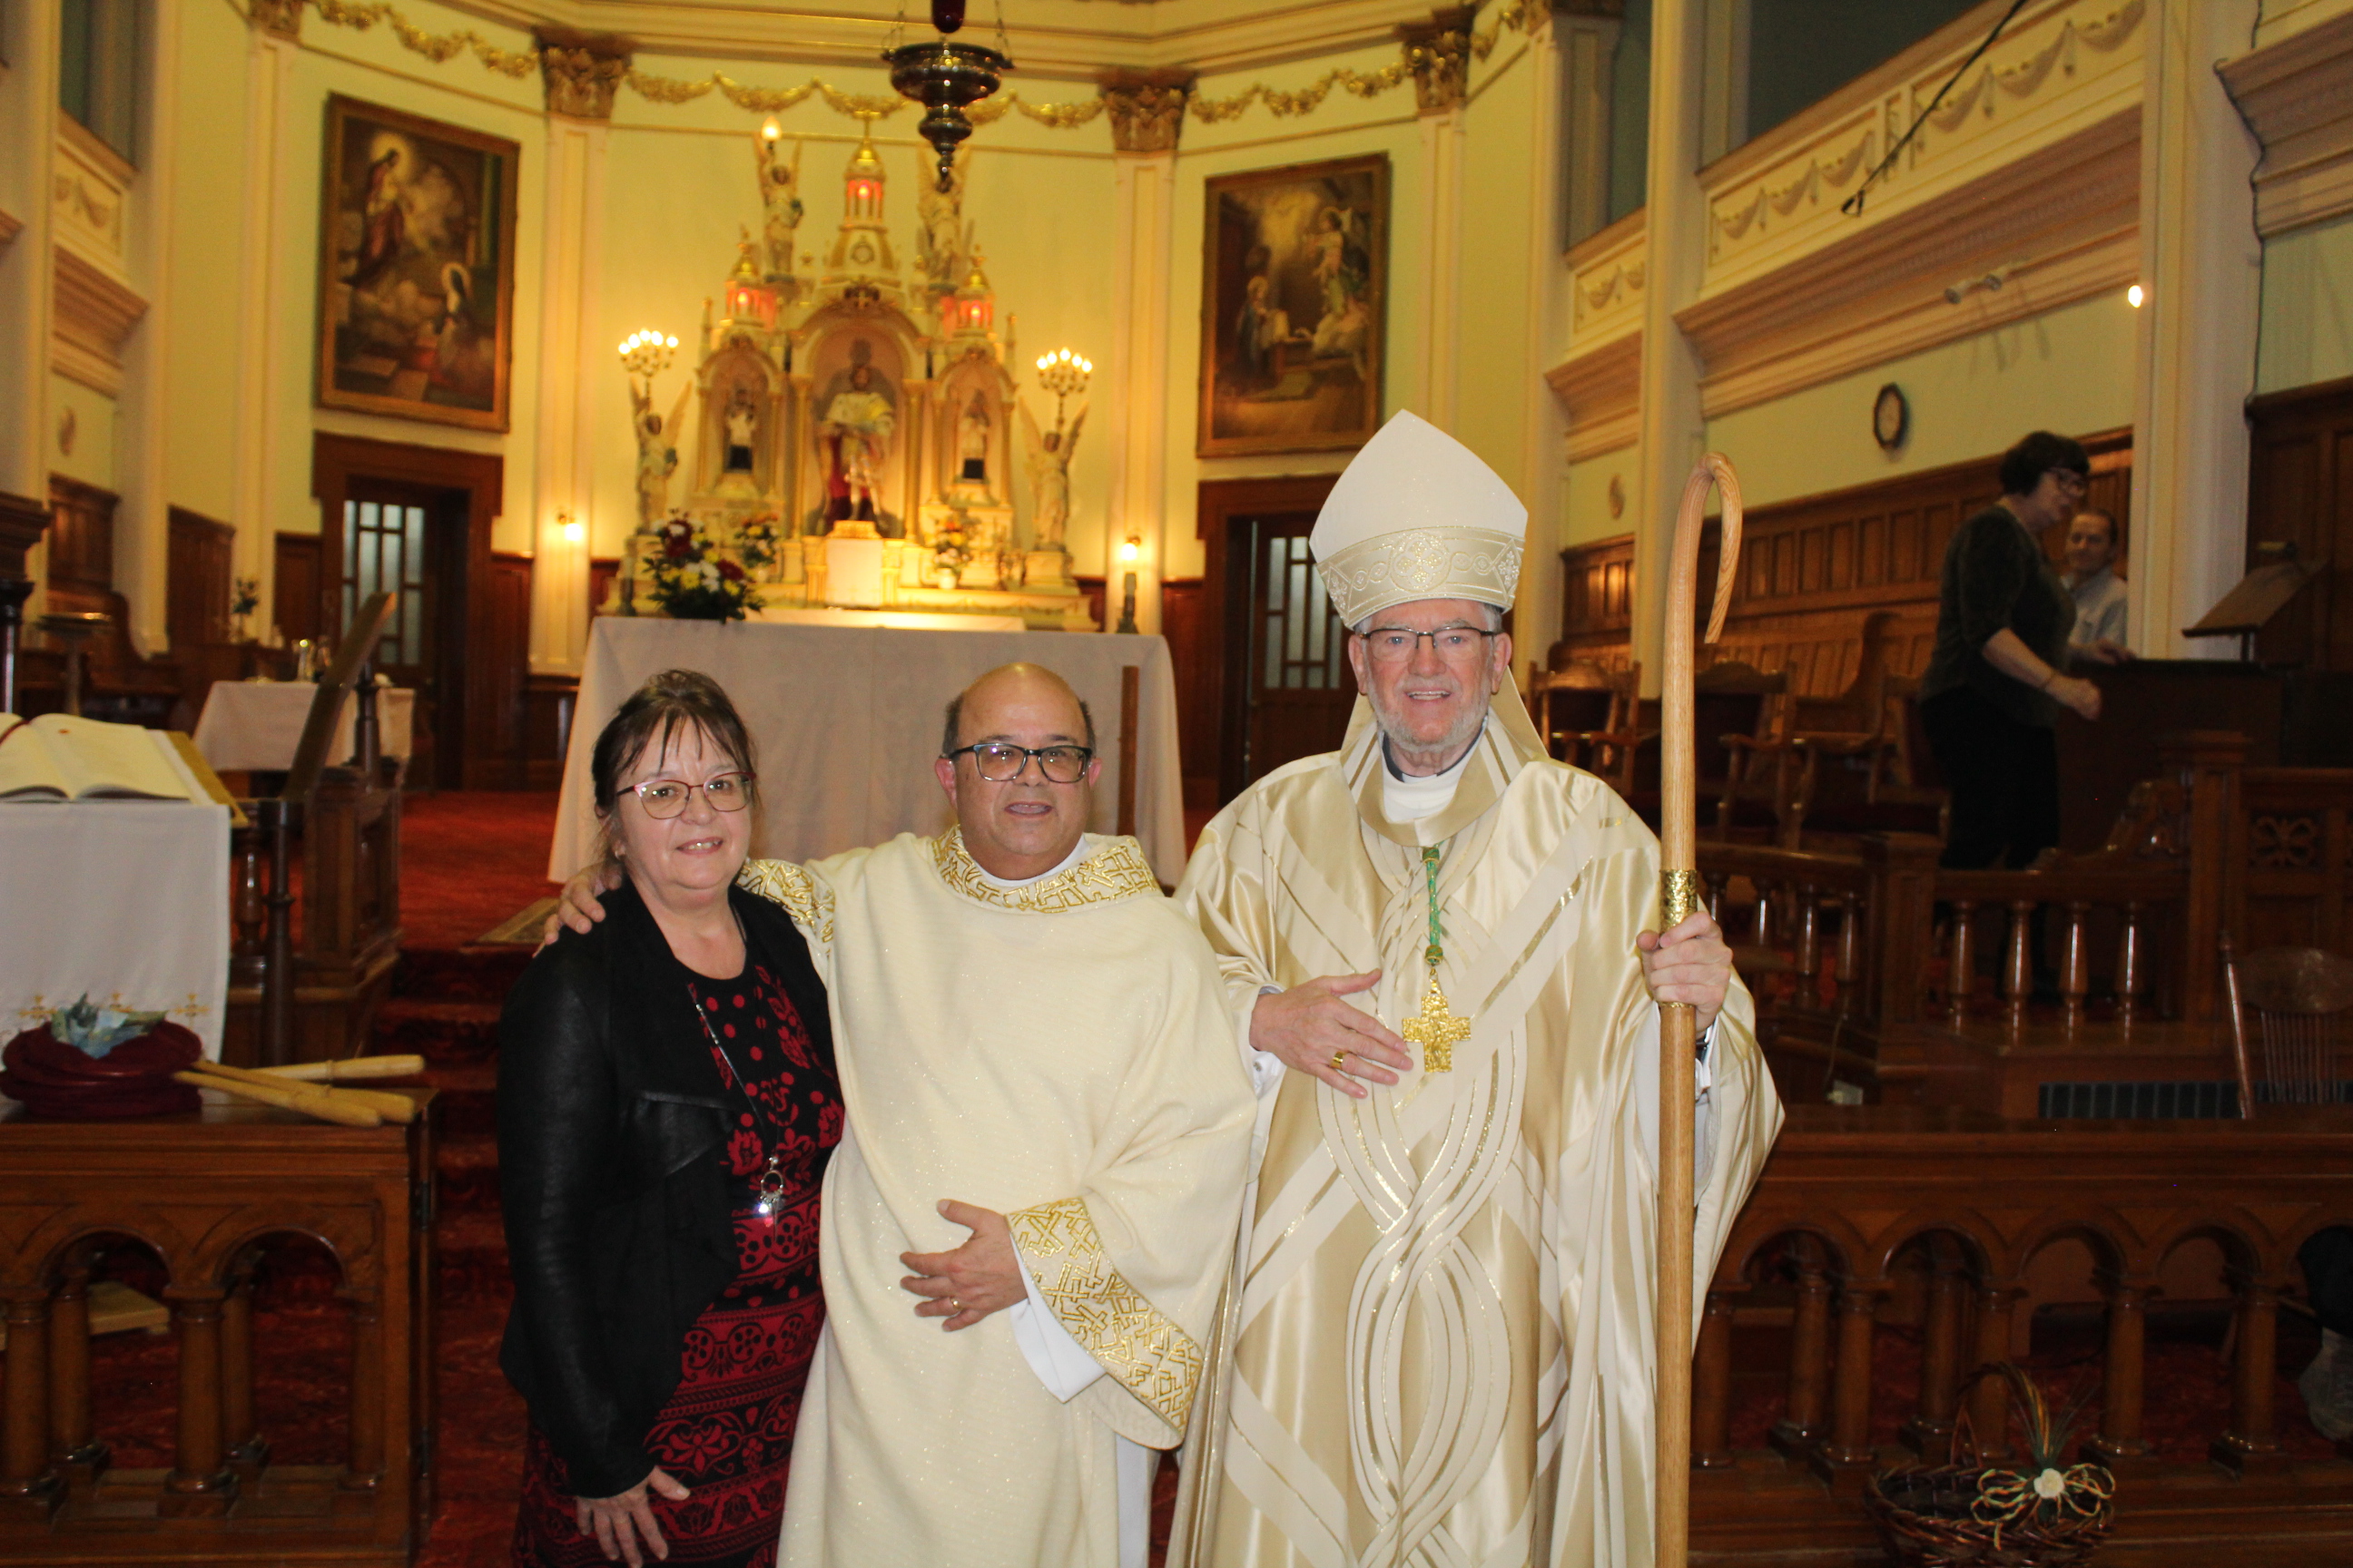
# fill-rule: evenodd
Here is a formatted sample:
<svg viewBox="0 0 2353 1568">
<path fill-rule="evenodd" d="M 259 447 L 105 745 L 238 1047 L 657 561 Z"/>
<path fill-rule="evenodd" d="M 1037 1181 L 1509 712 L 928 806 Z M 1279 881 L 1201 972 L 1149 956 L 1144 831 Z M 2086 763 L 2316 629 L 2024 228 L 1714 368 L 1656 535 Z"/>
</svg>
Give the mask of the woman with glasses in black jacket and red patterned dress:
<svg viewBox="0 0 2353 1568">
<path fill-rule="evenodd" d="M 826 990 L 791 919 L 734 889 L 753 755 L 711 677 L 649 679 L 591 771 L 628 877 L 499 1020 L 515 1561 L 765 1566 L 826 1316 Z"/>
</svg>

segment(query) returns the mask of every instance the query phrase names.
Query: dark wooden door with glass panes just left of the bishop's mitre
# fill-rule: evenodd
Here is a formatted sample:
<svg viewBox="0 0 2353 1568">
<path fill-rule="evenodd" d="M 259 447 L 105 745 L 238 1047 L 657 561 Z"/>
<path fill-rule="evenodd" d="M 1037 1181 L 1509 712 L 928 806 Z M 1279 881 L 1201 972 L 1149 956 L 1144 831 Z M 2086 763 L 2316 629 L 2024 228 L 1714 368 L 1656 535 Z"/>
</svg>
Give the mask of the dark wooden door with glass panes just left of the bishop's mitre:
<svg viewBox="0 0 2353 1568">
<path fill-rule="evenodd" d="M 1240 785 L 1285 762 L 1339 750 L 1355 705 L 1348 628 L 1315 576 L 1315 512 L 1228 520 L 1226 602 L 1240 614 Z"/>
</svg>

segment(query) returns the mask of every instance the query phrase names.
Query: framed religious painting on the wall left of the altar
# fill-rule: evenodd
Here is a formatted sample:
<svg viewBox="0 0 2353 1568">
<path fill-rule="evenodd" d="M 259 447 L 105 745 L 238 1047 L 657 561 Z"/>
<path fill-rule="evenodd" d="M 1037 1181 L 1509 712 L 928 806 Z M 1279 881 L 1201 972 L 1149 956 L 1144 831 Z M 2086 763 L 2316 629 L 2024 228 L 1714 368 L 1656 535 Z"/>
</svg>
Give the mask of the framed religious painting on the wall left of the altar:
<svg viewBox="0 0 2353 1568">
<path fill-rule="evenodd" d="M 508 428 L 520 153 L 461 125 L 327 99 L 320 407 Z"/>
</svg>

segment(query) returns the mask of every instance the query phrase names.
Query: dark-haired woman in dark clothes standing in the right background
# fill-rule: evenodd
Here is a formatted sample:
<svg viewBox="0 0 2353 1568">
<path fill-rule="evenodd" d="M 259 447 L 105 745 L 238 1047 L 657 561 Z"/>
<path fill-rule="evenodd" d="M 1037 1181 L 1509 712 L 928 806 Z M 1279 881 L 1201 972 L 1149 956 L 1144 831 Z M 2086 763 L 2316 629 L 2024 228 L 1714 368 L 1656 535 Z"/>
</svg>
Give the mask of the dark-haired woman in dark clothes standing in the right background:
<svg viewBox="0 0 2353 1568">
<path fill-rule="evenodd" d="M 2035 430 L 2002 456 L 2002 498 L 1953 531 L 1920 724 L 1953 792 L 1944 865 L 2021 867 L 2059 842 L 2059 708 L 2099 717 L 2066 672 L 2075 599 L 2042 555 L 2092 480 L 2080 442 Z"/>
</svg>

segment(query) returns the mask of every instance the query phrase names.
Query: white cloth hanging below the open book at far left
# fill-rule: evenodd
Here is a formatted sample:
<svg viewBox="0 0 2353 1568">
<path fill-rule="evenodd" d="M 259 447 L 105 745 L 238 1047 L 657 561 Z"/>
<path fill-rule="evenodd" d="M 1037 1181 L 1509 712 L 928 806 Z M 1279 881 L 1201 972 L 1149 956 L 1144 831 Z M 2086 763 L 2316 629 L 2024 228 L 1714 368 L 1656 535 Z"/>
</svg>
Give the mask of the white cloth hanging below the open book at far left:
<svg viewBox="0 0 2353 1568">
<path fill-rule="evenodd" d="M 85 992 L 167 1011 L 221 1056 L 228 806 L 0 804 L 0 1041 Z"/>
</svg>

